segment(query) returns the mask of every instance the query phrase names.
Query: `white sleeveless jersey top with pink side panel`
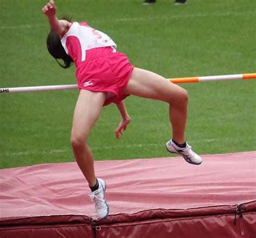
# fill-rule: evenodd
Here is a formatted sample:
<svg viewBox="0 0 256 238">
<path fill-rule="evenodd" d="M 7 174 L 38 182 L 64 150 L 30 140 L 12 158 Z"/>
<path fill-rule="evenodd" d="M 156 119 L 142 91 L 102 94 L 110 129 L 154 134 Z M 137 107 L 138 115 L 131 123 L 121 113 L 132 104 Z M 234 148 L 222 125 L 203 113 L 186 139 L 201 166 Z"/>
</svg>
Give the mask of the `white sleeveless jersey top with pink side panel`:
<svg viewBox="0 0 256 238">
<path fill-rule="evenodd" d="M 76 66 L 85 61 L 86 50 L 107 46 L 117 47 L 109 36 L 91 28 L 85 22 L 73 22 L 70 29 L 61 38 L 61 42 Z"/>
</svg>

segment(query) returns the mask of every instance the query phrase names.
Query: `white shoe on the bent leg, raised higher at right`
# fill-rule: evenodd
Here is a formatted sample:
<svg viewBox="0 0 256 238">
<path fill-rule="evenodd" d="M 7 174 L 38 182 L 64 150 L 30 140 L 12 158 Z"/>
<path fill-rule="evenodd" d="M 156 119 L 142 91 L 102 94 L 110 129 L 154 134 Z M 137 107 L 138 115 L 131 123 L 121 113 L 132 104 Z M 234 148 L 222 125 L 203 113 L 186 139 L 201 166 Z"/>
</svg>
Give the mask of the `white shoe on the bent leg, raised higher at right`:
<svg viewBox="0 0 256 238">
<path fill-rule="evenodd" d="M 175 145 L 172 140 L 169 140 L 166 142 L 166 149 L 171 153 L 180 154 L 188 163 L 192 165 L 200 165 L 203 161 L 198 154 L 192 151 L 191 146 L 188 144 L 185 148 L 180 148 Z"/>
</svg>

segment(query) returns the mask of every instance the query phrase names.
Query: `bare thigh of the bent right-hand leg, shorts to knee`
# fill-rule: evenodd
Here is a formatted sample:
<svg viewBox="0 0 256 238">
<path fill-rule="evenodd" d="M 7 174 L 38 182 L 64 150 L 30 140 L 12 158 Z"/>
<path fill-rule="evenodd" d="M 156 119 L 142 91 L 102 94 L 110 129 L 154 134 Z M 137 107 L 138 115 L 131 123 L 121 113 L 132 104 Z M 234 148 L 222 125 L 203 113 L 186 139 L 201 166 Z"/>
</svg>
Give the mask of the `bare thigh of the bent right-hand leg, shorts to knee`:
<svg viewBox="0 0 256 238">
<path fill-rule="evenodd" d="M 179 100 L 186 91 L 156 73 L 135 67 L 124 93 L 170 103 Z"/>
</svg>

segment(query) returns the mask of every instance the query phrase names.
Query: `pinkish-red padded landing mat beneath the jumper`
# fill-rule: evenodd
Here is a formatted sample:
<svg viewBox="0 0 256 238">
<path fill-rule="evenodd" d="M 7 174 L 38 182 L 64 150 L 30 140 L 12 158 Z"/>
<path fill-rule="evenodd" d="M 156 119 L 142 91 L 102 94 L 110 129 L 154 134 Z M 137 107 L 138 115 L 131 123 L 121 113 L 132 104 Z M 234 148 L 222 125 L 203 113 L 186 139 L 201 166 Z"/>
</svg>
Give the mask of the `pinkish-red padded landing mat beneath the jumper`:
<svg viewBox="0 0 256 238">
<path fill-rule="evenodd" d="M 255 237 L 256 152 L 96 161 L 107 183 L 97 219 L 75 162 L 0 171 L 0 237 Z"/>
</svg>

